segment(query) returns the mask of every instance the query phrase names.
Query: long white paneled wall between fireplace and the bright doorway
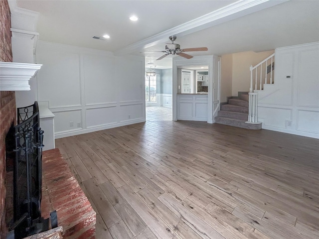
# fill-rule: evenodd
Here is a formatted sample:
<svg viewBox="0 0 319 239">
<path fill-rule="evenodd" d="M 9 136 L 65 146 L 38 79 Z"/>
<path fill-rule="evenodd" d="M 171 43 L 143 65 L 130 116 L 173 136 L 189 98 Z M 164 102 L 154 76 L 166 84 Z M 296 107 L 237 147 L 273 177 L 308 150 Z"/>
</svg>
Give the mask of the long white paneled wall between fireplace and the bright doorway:
<svg viewBox="0 0 319 239">
<path fill-rule="evenodd" d="M 40 41 L 36 62 L 56 138 L 145 121 L 143 57 Z"/>
</svg>

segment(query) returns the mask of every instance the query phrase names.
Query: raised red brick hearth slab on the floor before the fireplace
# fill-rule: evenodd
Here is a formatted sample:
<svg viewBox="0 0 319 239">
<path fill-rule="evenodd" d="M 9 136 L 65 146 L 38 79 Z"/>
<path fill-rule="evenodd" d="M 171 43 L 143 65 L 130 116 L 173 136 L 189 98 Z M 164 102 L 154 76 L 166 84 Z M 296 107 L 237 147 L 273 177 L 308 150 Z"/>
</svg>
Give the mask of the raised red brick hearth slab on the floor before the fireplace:
<svg viewBox="0 0 319 239">
<path fill-rule="evenodd" d="M 58 149 L 43 152 L 42 169 L 42 200 L 50 204 L 42 204 L 42 212 L 47 214 L 44 206 L 57 210 L 63 238 L 94 238 L 96 213 Z"/>
</svg>

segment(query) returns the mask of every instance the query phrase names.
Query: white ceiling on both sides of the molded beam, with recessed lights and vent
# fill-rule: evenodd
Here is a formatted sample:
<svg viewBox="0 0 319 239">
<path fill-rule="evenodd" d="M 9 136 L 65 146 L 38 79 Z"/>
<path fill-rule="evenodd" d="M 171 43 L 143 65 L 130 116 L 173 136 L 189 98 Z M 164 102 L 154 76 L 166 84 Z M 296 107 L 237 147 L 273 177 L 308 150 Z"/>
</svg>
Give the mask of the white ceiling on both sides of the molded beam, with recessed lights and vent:
<svg viewBox="0 0 319 239">
<path fill-rule="evenodd" d="M 40 40 L 121 52 L 154 62 L 164 50 L 165 39 L 145 39 L 232 4 L 231 0 L 17 0 L 17 6 L 39 12 Z M 273 0 L 274 2 L 274 0 Z M 279 4 L 280 3 L 280 4 Z M 181 48 L 207 47 L 197 55 L 223 55 L 241 51 L 266 51 L 277 47 L 319 41 L 319 0 L 277 1 L 272 7 L 220 22 L 206 29 L 177 35 Z M 132 22 L 129 16 L 139 16 Z M 247 13 L 246 13 L 247 14 Z M 93 35 L 109 34 L 106 41 Z M 173 29 L 172 29 L 172 34 Z M 165 36 L 168 42 L 168 36 Z M 156 39 L 156 38 L 154 38 Z M 145 44 L 137 44 L 137 43 Z M 157 44 L 158 43 L 158 44 Z M 132 47 L 136 45 L 136 47 Z M 123 52 L 122 52 L 123 53 Z M 179 57 L 179 56 L 174 56 Z M 172 56 L 156 61 L 157 69 L 171 67 Z"/>
</svg>

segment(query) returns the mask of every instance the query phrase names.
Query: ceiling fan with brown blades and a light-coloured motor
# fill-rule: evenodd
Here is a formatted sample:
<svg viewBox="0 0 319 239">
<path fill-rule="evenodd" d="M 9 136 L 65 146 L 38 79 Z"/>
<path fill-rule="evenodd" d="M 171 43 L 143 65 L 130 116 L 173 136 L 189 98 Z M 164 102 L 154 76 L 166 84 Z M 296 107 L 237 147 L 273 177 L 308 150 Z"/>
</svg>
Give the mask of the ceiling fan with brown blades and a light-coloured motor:
<svg viewBox="0 0 319 239">
<path fill-rule="evenodd" d="M 188 55 L 188 54 L 186 54 L 184 52 L 188 52 L 188 51 L 207 51 L 208 50 L 207 47 L 195 47 L 195 48 L 180 49 L 180 45 L 174 43 L 174 40 L 176 40 L 176 36 L 170 36 L 169 40 L 171 41 L 171 43 L 166 43 L 164 51 L 149 51 L 149 52 L 140 52 L 140 53 L 150 53 L 150 52 L 164 52 L 165 53 L 164 55 L 162 55 L 160 58 L 158 58 L 156 60 L 161 60 L 165 56 L 175 55 L 175 54 L 179 55 L 181 57 L 190 59 L 190 58 L 192 58 L 192 56 Z"/>
</svg>

